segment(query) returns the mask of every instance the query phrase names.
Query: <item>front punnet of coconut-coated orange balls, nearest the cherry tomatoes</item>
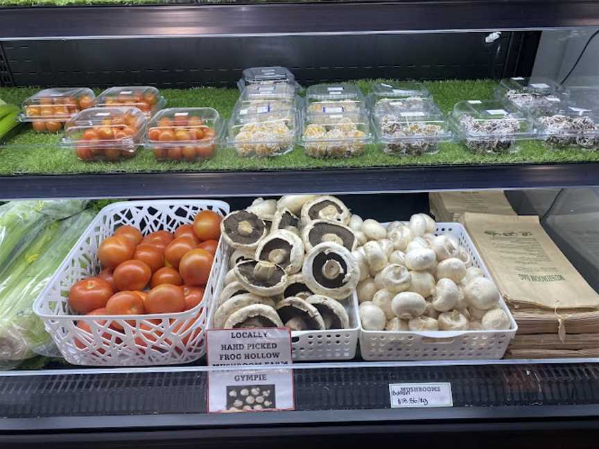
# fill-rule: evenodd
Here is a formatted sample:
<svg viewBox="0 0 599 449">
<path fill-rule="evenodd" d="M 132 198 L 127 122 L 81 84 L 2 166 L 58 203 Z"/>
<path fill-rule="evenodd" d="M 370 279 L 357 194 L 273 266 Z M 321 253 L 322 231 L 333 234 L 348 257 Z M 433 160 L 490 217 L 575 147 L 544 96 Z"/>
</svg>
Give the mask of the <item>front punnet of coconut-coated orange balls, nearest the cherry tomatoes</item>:
<svg viewBox="0 0 599 449">
<path fill-rule="evenodd" d="M 227 144 L 241 157 L 284 155 L 293 150 L 296 130 L 293 102 L 238 102 L 227 126 Z"/>
</svg>

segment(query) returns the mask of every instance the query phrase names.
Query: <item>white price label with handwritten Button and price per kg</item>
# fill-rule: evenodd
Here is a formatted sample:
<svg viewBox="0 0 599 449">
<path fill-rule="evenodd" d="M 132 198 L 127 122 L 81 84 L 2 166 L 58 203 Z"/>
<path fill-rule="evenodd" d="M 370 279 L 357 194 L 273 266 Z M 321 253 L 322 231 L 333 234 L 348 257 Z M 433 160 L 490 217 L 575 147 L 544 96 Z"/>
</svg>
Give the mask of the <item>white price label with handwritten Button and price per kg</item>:
<svg viewBox="0 0 599 449">
<path fill-rule="evenodd" d="M 389 384 L 391 408 L 453 407 L 449 382 Z"/>
</svg>

